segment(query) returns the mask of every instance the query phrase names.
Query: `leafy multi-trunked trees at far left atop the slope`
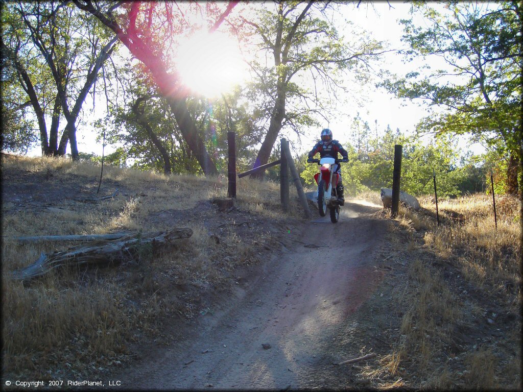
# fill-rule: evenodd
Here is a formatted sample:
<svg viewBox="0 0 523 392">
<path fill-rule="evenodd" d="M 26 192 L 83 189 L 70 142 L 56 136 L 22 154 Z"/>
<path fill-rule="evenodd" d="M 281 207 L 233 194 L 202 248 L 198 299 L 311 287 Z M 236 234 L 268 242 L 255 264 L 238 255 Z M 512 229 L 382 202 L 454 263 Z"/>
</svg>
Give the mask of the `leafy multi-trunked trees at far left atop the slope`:
<svg viewBox="0 0 523 392">
<path fill-rule="evenodd" d="M 100 52 L 111 34 L 93 16 L 64 5 L 56 1 L 2 3 L 2 91 L 6 98 L 2 120 L 7 127 L 3 148 L 27 151 L 38 135 L 42 153 L 65 154 L 67 135 L 75 133 L 73 124 L 86 94 L 89 90 L 99 93 L 110 84 L 106 80 L 93 88 L 97 74 L 89 73 L 98 70 Z M 59 146 L 59 125 L 64 118 L 71 127 Z M 75 139 L 71 140 L 76 151 Z"/>
</svg>

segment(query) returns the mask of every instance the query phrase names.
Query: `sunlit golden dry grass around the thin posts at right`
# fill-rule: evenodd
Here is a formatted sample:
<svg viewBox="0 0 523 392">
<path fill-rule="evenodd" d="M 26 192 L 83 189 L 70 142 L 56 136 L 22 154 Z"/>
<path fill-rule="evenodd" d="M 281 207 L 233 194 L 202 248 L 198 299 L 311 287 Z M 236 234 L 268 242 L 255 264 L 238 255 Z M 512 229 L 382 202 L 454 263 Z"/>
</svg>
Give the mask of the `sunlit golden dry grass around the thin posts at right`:
<svg viewBox="0 0 523 392">
<path fill-rule="evenodd" d="M 426 201 L 422 205 L 433 208 Z M 519 201 L 510 197 L 499 199 L 497 230 L 492 199 L 486 196 L 469 196 L 440 205 L 444 213 L 458 216 L 458 219 L 428 231 L 426 244 L 440 257 L 458 257 L 467 279 L 477 286 L 483 287 L 488 282 L 496 290 L 507 284 L 520 287 Z"/>
</svg>

